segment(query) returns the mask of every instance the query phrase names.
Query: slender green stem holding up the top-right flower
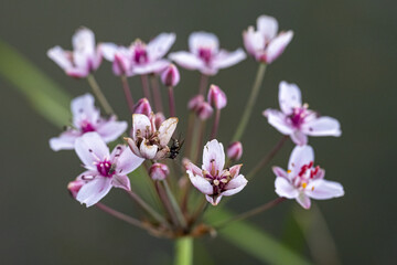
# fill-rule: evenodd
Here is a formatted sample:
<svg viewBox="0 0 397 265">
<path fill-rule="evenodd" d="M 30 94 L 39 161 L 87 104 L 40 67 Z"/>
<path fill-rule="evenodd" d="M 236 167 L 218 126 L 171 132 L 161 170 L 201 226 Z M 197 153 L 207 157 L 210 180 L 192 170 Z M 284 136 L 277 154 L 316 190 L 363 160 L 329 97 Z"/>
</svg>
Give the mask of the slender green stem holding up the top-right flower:
<svg viewBox="0 0 397 265">
<path fill-rule="evenodd" d="M 256 102 L 256 99 L 258 97 L 258 94 L 259 94 L 261 83 L 264 81 L 266 66 L 267 65 L 264 64 L 264 63 L 259 64 L 258 72 L 257 72 L 257 75 L 256 75 L 256 78 L 255 78 L 255 83 L 253 85 L 251 94 L 249 95 L 247 106 L 246 106 L 246 108 L 244 110 L 240 123 L 237 126 L 237 130 L 236 130 L 235 135 L 233 136 L 233 141 L 238 141 L 242 138 L 242 136 L 244 134 L 244 130 L 247 127 L 249 116 L 250 116 L 250 114 L 253 112 L 255 102 Z"/>
</svg>

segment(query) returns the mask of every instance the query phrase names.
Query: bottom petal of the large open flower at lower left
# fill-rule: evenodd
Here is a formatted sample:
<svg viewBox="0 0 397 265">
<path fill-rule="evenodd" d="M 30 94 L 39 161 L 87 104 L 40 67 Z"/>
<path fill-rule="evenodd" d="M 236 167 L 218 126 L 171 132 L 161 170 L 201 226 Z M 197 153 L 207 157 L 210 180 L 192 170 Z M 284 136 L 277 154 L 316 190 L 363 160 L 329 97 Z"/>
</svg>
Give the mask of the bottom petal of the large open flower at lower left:
<svg viewBox="0 0 397 265">
<path fill-rule="evenodd" d="M 111 189 L 111 178 L 97 177 L 84 184 L 78 191 L 76 200 L 86 206 L 92 206 L 100 201 Z"/>
</svg>

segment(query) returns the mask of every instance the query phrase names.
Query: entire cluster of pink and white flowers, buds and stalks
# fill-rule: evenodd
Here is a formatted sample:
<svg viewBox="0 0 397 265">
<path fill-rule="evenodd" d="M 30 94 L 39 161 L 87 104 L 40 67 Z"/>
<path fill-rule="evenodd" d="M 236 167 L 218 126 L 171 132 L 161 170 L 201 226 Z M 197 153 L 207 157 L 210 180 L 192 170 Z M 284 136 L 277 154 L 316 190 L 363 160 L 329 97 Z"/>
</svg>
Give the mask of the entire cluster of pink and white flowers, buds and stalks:
<svg viewBox="0 0 397 265">
<path fill-rule="evenodd" d="M 219 47 L 219 40 L 213 33 L 194 32 L 189 38 L 189 52 L 171 52 L 175 42 L 174 33 L 161 33 L 150 42 L 137 39 L 129 46 L 110 42 L 96 44 L 94 33 L 78 29 L 73 36 L 73 51 L 55 46 L 47 55 L 67 75 L 87 78 L 94 96 L 106 112 L 101 117 L 92 94 L 84 94 L 72 100 L 72 124 L 58 137 L 50 140 L 54 151 L 75 150 L 85 171 L 69 182 L 73 198 L 86 206 L 99 209 L 126 221 L 125 214 L 101 204 L 101 199 L 112 187 L 121 188 L 142 208 L 146 218 L 129 223 L 144 222 L 152 234 L 178 237 L 210 233 L 197 223 L 206 205 L 217 205 L 223 197 L 240 192 L 248 180 L 258 174 L 281 148 L 288 136 L 297 146 L 288 162 L 288 170 L 273 167 L 276 193 L 283 199 L 296 199 L 304 209 L 310 199 L 331 199 L 344 194 L 337 182 L 324 180 L 325 171 L 314 167 L 314 151 L 308 146 L 308 136 L 341 136 L 340 124 L 331 117 L 322 117 L 302 104 L 301 92 L 296 84 L 282 81 L 279 85 L 280 110 L 266 109 L 268 123 L 285 137 L 262 161 L 250 172 L 243 174 L 243 165 L 232 166 L 243 156 L 242 136 L 261 86 L 266 66 L 278 59 L 293 36 L 292 31 L 278 32 L 275 18 L 261 15 L 257 30 L 249 26 L 243 33 L 245 49 L 259 65 L 253 92 L 236 129 L 235 137 L 227 145 L 217 139 L 222 129 L 221 112 L 227 107 L 226 93 L 217 85 L 208 86 L 208 78 L 221 68 L 230 67 L 246 59 L 243 49 L 228 52 Z M 132 115 L 131 127 L 127 121 L 117 120 L 105 94 L 95 81 L 94 73 L 103 59 L 111 63 L 112 73 L 119 76 L 128 109 Z M 201 74 L 198 91 L 192 93 L 187 103 L 187 117 L 176 115 L 174 89 L 181 80 L 178 67 L 196 70 Z M 135 102 L 128 78 L 140 76 L 144 97 Z M 167 93 L 168 108 L 162 94 Z M 186 130 L 178 127 L 179 120 L 186 118 Z M 212 120 L 210 130 L 206 124 Z M 230 128 L 227 128 L 230 130 Z M 178 135 L 184 135 L 182 139 Z M 204 145 L 204 142 L 206 142 Z M 111 145 L 110 152 L 107 145 Z M 204 148 L 203 148 L 204 146 Z M 197 167 L 202 155 L 202 166 Z M 253 153 L 250 156 L 258 156 Z M 164 214 L 155 211 L 131 187 L 132 171 L 140 169 L 162 203 Z M 246 170 L 246 169 L 244 169 Z M 190 204 L 193 200 L 189 181 L 200 192 L 202 203 Z M 143 192 L 143 191 L 141 191 Z M 198 206 L 196 206 L 198 205 Z M 144 220 L 144 221 L 143 221 Z M 207 226 L 204 226 L 207 227 Z M 154 232 L 153 232 L 154 231 Z"/>
</svg>

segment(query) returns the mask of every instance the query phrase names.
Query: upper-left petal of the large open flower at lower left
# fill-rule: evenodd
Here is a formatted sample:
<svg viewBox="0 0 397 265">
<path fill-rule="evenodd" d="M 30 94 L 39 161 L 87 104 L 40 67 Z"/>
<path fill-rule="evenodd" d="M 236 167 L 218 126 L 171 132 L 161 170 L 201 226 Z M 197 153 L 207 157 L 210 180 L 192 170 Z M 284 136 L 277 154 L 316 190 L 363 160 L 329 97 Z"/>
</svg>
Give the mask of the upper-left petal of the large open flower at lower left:
<svg viewBox="0 0 397 265">
<path fill-rule="evenodd" d="M 77 138 L 75 150 L 87 169 L 96 170 L 96 162 L 109 158 L 109 149 L 97 132 L 87 132 Z"/>
</svg>

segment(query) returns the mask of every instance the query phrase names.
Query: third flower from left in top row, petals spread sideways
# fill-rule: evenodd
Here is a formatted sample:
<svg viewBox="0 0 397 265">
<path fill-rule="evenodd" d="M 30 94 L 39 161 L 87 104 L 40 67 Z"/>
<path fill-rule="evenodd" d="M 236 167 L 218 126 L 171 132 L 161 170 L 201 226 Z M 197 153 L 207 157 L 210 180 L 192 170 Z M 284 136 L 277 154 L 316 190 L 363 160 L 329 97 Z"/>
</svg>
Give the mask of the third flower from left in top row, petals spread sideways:
<svg viewBox="0 0 397 265">
<path fill-rule="evenodd" d="M 246 59 L 242 49 L 234 52 L 219 50 L 216 35 L 207 32 L 193 32 L 189 36 L 190 52 L 175 52 L 170 59 L 187 70 L 198 70 L 206 75 L 215 75 L 219 68 L 233 66 Z"/>
</svg>

